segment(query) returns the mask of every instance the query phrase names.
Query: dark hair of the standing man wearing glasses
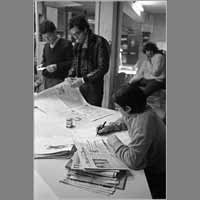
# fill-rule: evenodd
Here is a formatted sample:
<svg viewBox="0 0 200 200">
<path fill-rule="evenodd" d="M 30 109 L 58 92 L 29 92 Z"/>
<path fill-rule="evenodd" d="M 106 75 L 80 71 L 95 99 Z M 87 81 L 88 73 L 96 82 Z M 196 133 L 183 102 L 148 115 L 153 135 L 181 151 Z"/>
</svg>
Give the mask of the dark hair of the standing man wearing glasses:
<svg viewBox="0 0 200 200">
<path fill-rule="evenodd" d="M 80 31 L 84 31 L 85 29 L 89 30 L 90 26 L 87 20 L 83 15 L 78 15 L 73 17 L 69 22 L 69 28 L 77 27 Z"/>
</svg>

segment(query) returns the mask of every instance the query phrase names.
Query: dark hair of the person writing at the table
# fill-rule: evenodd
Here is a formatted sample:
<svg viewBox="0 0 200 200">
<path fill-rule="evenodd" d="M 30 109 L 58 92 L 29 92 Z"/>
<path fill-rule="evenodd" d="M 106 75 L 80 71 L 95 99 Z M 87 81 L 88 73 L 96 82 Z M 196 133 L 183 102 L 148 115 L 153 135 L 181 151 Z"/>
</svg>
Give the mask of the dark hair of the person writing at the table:
<svg viewBox="0 0 200 200">
<path fill-rule="evenodd" d="M 141 113 L 145 110 L 146 96 L 137 86 L 131 86 L 129 84 L 123 85 L 114 93 L 112 99 L 122 108 L 130 106 L 132 109 L 131 113 Z"/>
</svg>

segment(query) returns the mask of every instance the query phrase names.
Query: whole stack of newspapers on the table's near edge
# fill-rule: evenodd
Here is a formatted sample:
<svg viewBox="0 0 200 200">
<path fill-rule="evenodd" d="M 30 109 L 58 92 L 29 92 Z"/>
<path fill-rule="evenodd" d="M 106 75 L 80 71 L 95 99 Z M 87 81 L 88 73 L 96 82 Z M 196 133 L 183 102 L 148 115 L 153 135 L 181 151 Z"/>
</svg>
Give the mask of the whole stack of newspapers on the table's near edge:
<svg viewBox="0 0 200 200">
<path fill-rule="evenodd" d="M 104 140 L 76 141 L 75 145 L 77 151 L 66 164 L 67 175 L 60 182 L 105 195 L 124 189 L 128 167 L 115 157 Z"/>
</svg>

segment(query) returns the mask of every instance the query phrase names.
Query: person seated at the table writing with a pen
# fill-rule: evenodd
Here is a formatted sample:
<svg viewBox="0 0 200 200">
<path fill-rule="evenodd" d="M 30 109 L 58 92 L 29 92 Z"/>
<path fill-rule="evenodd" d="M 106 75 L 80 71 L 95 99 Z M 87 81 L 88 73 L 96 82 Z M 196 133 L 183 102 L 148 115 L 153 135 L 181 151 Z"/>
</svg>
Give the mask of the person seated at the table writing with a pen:
<svg viewBox="0 0 200 200">
<path fill-rule="evenodd" d="M 153 198 L 165 198 L 166 190 L 166 129 L 164 123 L 146 105 L 146 96 L 139 87 L 122 86 L 113 101 L 122 118 L 107 126 L 98 126 L 97 134 L 128 130 L 130 143 L 125 145 L 115 136 L 108 144 L 129 168 L 144 169 Z"/>
</svg>

